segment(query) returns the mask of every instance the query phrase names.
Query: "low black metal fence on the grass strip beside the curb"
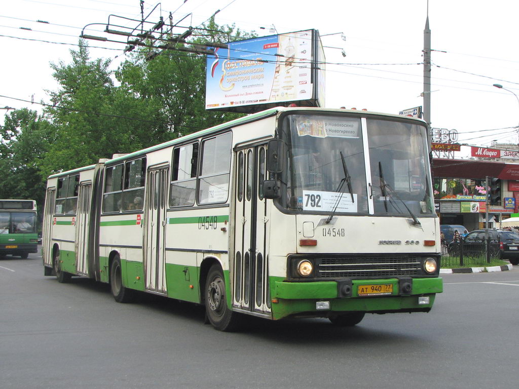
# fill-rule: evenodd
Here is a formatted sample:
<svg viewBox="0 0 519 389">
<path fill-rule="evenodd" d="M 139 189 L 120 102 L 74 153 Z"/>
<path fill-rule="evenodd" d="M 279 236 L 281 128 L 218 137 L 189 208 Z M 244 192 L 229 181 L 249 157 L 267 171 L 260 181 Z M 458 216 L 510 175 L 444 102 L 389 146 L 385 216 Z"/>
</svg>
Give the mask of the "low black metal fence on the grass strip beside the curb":
<svg viewBox="0 0 519 389">
<path fill-rule="evenodd" d="M 483 240 L 477 243 L 442 242 L 441 267 L 484 266 L 499 258 L 499 242 Z"/>
</svg>

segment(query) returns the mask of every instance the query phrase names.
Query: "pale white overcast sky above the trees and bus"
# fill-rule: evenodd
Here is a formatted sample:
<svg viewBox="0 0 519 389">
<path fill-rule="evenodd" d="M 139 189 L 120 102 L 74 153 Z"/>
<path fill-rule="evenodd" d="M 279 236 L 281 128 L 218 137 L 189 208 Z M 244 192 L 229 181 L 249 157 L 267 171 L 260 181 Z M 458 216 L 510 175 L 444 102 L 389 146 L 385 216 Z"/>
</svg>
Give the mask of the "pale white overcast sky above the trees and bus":
<svg viewBox="0 0 519 389">
<path fill-rule="evenodd" d="M 41 111 L 31 102 L 49 103 L 48 91 L 59 88 L 49 64 L 70 63 L 70 50 L 77 49 L 82 31 L 110 36 L 102 32 L 110 15 L 112 24 L 122 26 L 136 24 L 122 18 L 141 18 L 139 0 L 1 4 L 0 108 Z M 149 20 L 158 21 L 160 15 L 168 20 L 170 12 L 174 21 L 187 16 L 181 23 L 186 27 L 199 26 L 220 10 L 216 23 L 235 23 L 260 36 L 272 35 L 270 29 L 280 34 L 316 29 L 325 46 L 326 107 L 393 114 L 423 105 L 422 50 L 429 15 L 432 127 L 457 130 L 462 144 L 519 143 L 519 2 L 146 0 L 143 9 Z M 91 58 L 111 59 L 112 70 L 125 59 L 124 44 L 88 43 Z M 0 124 L 6 112 L 0 109 Z"/>
</svg>

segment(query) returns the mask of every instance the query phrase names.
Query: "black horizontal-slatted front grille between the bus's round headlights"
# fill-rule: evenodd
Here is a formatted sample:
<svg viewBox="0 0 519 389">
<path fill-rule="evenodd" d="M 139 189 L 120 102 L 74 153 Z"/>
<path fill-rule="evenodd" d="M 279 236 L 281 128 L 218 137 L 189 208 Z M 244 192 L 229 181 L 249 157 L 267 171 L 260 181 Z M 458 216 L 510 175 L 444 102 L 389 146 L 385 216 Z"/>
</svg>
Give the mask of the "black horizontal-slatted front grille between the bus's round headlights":
<svg viewBox="0 0 519 389">
<path fill-rule="evenodd" d="M 387 278 L 422 274 L 419 257 L 322 258 L 317 277 Z"/>
</svg>

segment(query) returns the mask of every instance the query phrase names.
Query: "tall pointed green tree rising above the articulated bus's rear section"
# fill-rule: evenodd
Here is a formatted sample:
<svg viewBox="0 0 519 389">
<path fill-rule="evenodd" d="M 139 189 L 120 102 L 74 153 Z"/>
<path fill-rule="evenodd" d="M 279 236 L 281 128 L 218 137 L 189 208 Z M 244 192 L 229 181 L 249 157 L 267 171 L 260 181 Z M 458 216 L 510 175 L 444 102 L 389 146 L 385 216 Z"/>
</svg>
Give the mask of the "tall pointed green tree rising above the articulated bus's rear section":
<svg viewBox="0 0 519 389">
<path fill-rule="evenodd" d="M 45 109 L 57 138 L 43 161 L 46 173 L 69 170 L 111 157 L 125 150 L 127 136 L 114 128 L 114 83 L 110 60 L 89 59 L 88 47 L 79 41 L 71 50 L 72 63 L 51 64 L 60 89 L 51 91 L 52 107 Z"/>
</svg>

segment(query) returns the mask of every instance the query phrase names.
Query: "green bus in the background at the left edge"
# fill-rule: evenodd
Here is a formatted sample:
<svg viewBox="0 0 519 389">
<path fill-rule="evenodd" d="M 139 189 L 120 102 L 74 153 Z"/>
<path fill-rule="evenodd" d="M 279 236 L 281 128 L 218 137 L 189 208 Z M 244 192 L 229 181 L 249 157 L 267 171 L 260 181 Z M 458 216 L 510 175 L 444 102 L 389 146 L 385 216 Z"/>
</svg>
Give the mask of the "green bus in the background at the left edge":
<svg viewBox="0 0 519 389">
<path fill-rule="evenodd" d="M 0 257 L 38 252 L 36 201 L 0 200 Z"/>
</svg>

